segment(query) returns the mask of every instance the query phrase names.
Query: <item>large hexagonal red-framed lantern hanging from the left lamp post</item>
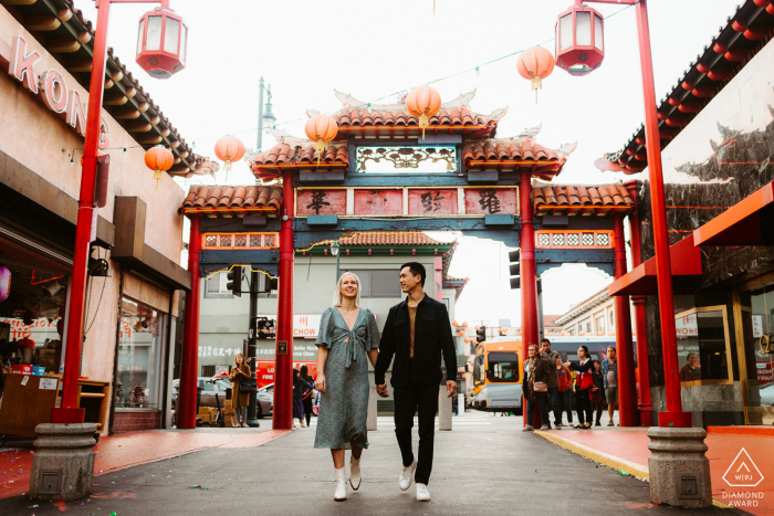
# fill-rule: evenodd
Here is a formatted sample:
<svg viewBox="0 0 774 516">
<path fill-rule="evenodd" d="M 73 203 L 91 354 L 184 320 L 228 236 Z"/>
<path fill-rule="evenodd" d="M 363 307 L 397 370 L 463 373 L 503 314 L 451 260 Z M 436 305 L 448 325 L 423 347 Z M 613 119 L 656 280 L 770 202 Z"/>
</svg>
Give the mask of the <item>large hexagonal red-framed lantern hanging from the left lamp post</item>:
<svg viewBox="0 0 774 516">
<path fill-rule="evenodd" d="M 158 7 L 139 19 L 137 64 L 156 78 L 169 78 L 186 67 L 188 27 L 168 7 Z"/>
</svg>

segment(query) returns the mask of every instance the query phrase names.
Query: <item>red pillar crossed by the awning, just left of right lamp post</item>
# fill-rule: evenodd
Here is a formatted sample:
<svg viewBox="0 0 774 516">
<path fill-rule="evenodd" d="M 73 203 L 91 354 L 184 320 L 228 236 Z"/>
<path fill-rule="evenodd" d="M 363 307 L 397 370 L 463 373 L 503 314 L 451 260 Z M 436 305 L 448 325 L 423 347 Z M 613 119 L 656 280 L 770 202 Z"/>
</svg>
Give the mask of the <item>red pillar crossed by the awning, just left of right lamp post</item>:
<svg viewBox="0 0 774 516">
<path fill-rule="evenodd" d="M 629 196 L 637 206 L 637 181 L 624 183 Z M 639 249 L 639 215 L 637 212 L 629 214 L 629 234 L 631 235 L 631 266 L 637 267 L 642 263 L 642 255 Z M 635 325 L 637 326 L 637 369 L 639 371 L 639 417 L 642 427 L 650 427 L 650 412 L 653 410 L 650 404 L 650 365 L 648 364 L 648 328 L 645 319 L 645 296 L 631 296 L 635 305 Z"/>
</svg>

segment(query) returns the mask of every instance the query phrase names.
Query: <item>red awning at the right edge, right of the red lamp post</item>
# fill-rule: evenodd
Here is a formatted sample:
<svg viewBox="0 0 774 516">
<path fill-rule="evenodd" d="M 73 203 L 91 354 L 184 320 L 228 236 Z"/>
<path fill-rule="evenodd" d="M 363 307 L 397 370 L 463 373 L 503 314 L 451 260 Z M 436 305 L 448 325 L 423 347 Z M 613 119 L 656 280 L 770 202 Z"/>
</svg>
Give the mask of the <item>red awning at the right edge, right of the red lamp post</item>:
<svg viewBox="0 0 774 516">
<path fill-rule="evenodd" d="M 772 245 L 774 182 L 695 230 L 693 241 L 697 245 Z"/>
</svg>

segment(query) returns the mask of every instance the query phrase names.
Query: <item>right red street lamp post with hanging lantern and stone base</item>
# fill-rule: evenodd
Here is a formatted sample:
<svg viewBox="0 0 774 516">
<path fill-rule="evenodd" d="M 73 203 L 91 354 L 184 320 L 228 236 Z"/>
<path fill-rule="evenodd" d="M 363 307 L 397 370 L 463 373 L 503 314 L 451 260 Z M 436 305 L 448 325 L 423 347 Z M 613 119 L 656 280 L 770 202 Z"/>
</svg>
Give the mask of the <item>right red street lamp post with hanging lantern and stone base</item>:
<svg viewBox="0 0 774 516">
<path fill-rule="evenodd" d="M 667 233 L 667 213 L 661 169 L 661 144 L 653 85 L 653 65 L 648 27 L 647 0 L 587 0 L 588 3 L 635 6 L 639 38 L 642 94 L 645 101 L 645 137 L 650 179 L 650 202 L 656 244 L 656 280 L 658 284 L 659 320 L 663 354 L 667 410 L 658 414 L 658 428 L 648 431 L 651 455 L 650 499 L 657 504 L 683 507 L 707 507 L 712 504 L 709 461 L 704 456 L 707 435 L 703 429 L 693 429 L 691 413 L 682 411 L 680 378 L 678 376 L 674 298 Z M 556 64 L 573 75 L 585 75 L 602 64 L 604 59 L 604 21 L 598 12 L 575 0 L 559 14 L 556 24 Z M 628 309 L 628 307 L 627 307 Z M 631 352 L 627 350 L 627 352 Z M 619 361 L 623 358 L 619 352 Z M 674 455 L 678 454 L 678 455 Z M 694 482 L 693 498 L 683 495 L 683 478 Z M 699 498 L 695 496 L 699 495 Z"/>
</svg>

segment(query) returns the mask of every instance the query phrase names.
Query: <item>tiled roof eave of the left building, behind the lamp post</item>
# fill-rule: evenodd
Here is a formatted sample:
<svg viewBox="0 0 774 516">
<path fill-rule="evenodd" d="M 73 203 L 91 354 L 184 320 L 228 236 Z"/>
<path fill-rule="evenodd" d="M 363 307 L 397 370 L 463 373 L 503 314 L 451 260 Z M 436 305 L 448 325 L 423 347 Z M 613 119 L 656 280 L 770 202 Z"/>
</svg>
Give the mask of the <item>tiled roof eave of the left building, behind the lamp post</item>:
<svg viewBox="0 0 774 516">
<path fill-rule="evenodd" d="M 44 2 L 2 2 L 9 12 L 24 25 L 35 39 L 54 54 L 54 57 L 70 72 L 86 91 L 90 88 L 94 36 L 92 22 L 84 19 L 73 0 L 46 0 Z M 41 19 L 59 20 L 59 24 L 42 28 Z M 62 42 L 72 42 L 62 50 Z M 53 44 L 55 43 L 55 48 Z M 165 145 L 175 156 L 175 165 L 168 171 L 171 176 L 211 173 L 209 169 L 199 172 L 200 157 L 192 152 L 175 126 L 164 116 L 150 95 L 132 76 L 113 49 L 107 49 L 105 65 L 105 92 L 103 109 L 144 148 Z M 206 161 L 206 160 L 205 160 Z"/>
</svg>

